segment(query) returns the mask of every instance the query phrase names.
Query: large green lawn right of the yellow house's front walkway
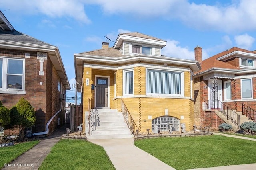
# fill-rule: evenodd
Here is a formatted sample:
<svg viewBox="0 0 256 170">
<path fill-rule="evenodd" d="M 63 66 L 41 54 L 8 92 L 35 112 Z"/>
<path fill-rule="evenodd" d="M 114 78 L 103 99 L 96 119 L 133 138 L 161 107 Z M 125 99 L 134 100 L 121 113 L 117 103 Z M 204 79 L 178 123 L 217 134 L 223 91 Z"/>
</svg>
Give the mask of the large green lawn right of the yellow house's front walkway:
<svg viewBox="0 0 256 170">
<path fill-rule="evenodd" d="M 177 170 L 256 163 L 256 142 L 220 135 L 152 138 L 135 145 Z"/>
</svg>

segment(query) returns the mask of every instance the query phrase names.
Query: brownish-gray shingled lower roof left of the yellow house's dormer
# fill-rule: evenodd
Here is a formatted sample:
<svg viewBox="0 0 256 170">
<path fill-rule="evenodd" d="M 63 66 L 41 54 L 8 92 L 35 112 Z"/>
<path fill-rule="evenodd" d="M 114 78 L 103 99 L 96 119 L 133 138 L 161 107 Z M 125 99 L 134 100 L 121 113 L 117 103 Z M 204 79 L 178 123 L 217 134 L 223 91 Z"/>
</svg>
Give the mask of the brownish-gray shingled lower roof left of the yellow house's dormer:
<svg viewBox="0 0 256 170">
<path fill-rule="evenodd" d="M 123 56 L 122 53 L 118 49 L 107 48 L 107 49 L 99 49 L 94 51 L 88 51 L 84 53 L 80 53 L 84 55 L 96 55 L 96 56 L 104 56 L 104 57 L 120 57 Z"/>
</svg>

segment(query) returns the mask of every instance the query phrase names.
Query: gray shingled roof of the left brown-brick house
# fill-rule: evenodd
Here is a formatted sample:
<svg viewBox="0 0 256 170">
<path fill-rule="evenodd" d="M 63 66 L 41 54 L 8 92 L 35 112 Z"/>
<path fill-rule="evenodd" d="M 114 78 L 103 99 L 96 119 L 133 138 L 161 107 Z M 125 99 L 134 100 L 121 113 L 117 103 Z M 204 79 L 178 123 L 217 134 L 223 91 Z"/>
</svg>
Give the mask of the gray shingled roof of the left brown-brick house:
<svg viewBox="0 0 256 170">
<path fill-rule="evenodd" d="M 0 31 L 0 40 L 4 41 L 14 41 L 18 43 L 29 43 L 29 44 L 36 44 L 36 45 L 47 45 L 47 46 L 54 46 L 23 33 L 20 33 L 16 30 L 13 31 Z"/>
</svg>

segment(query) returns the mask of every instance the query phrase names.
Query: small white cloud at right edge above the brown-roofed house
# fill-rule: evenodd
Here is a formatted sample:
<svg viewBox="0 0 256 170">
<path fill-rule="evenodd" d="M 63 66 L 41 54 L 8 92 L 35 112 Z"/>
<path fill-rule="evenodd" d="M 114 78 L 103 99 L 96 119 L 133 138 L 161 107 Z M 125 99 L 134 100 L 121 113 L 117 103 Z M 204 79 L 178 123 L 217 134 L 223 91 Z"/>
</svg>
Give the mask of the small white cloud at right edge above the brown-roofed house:
<svg viewBox="0 0 256 170">
<path fill-rule="evenodd" d="M 248 34 L 236 35 L 234 39 L 237 47 L 248 50 L 252 47 L 252 44 L 255 41 L 255 39 Z"/>
</svg>

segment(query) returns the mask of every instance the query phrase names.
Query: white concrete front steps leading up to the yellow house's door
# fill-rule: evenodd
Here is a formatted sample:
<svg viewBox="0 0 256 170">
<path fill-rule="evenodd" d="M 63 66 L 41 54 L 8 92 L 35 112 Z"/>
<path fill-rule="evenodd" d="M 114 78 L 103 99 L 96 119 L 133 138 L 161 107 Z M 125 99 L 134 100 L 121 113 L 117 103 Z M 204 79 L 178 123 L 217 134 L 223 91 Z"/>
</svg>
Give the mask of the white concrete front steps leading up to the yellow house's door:
<svg viewBox="0 0 256 170">
<path fill-rule="evenodd" d="M 116 109 L 98 109 L 99 126 L 86 135 L 87 139 L 133 138 L 124 116 Z"/>
</svg>

